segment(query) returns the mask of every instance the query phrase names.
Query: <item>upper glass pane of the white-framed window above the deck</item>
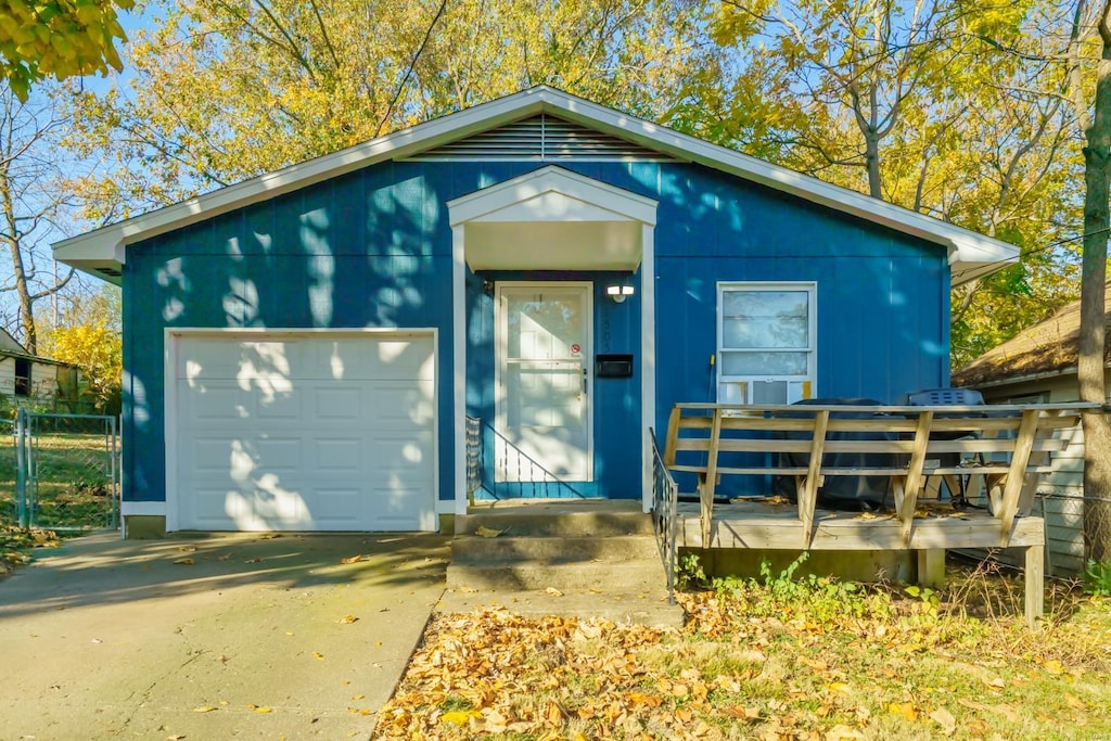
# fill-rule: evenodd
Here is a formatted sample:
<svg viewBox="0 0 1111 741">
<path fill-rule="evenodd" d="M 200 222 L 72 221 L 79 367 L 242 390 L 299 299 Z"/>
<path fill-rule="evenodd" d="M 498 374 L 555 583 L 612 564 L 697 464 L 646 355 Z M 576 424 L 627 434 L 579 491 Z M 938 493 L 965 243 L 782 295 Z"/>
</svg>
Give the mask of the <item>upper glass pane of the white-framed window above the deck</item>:
<svg viewBox="0 0 1111 741">
<path fill-rule="evenodd" d="M 724 291 L 722 343 L 727 348 L 807 348 L 805 291 Z"/>
</svg>

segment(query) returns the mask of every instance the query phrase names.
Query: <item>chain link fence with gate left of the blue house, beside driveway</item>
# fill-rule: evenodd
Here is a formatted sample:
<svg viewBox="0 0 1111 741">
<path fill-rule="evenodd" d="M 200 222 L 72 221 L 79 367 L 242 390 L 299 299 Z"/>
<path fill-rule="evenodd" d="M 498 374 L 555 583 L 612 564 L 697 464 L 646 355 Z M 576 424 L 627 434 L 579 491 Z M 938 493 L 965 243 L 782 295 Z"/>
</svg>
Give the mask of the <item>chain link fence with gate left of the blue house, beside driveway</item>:
<svg viewBox="0 0 1111 741">
<path fill-rule="evenodd" d="M 0 427 L 0 518 L 49 530 L 119 527 L 114 417 L 20 411 Z"/>
</svg>

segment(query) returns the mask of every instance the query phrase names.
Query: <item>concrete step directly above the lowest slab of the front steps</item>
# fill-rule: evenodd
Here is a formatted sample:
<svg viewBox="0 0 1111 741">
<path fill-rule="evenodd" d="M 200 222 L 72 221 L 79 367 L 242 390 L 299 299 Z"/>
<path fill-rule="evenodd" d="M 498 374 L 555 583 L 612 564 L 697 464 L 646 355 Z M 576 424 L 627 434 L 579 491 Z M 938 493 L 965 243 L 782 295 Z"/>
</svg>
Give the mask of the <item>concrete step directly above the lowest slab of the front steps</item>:
<svg viewBox="0 0 1111 741">
<path fill-rule="evenodd" d="M 634 561 L 536 563 L 531 561 L 461 563 L 448 565 L 449 589 L 528 591 L 548 588 L 604 590 L 620 584 L 624 590 L 660 590 L 667 584 L 659 558 Z"/>
</svg>

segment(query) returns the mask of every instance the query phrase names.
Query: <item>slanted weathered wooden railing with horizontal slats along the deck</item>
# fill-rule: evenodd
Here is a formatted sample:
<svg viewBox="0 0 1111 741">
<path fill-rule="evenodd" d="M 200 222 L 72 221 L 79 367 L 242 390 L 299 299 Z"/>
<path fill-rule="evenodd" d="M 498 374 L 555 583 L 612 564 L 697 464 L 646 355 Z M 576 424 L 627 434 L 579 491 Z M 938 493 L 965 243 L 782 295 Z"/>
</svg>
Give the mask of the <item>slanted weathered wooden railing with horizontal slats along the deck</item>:
<svg viewBox="0 0 1111 741">
<path fill-rule="evenodd" d="M 663 462 L 672 472 L 698 477 L 705 542 L 722 475 L 789 479 L 802 548 L 811 542 L 819 490 L 830 477 L 889 478 L 905 542 L 925 481 L 964 477 L 988 492 L 1005 547 L 1014 518 L 1030 509 L 1038 475 L 1050 470 L 1050 453 L 1065 444 L 1054 433 L 1091 408 L 1099 404 L 677 404 Z"/>
</svg>

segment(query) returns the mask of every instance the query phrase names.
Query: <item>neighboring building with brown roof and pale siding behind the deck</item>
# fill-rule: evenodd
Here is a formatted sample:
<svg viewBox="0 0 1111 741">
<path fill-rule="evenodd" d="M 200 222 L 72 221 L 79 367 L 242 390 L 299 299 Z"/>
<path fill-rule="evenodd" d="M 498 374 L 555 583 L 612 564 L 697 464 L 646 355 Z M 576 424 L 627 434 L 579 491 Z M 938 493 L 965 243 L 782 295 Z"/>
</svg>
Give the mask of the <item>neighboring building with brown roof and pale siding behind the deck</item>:
<svg viewBox="0 0 1111 741">
<path fill-rule="evenodd" d="M 1111 283 L 1105 288 L 1111 308 Z M 1111 329 L 1111 311 L 1108 313 Z M 1077 401 L 1077 352 L 1080 342 L 1080 302 L 980 356 L 952 375 L 953 385 L 979 389 L 989 403 Z M 1104 388 L 1111 383 L 1111 350 L 1104 351 Z M 1053 454 L 1053 472 L 1042 477 L 1034 514 L 1043 514 L 1050 570 L 1075 577 L 1084 565 L 1083 432 L 1063 433 L 1069 447 Z"/>
</svg>

